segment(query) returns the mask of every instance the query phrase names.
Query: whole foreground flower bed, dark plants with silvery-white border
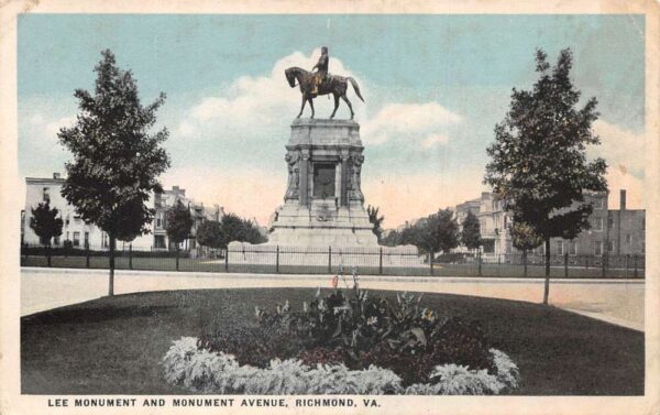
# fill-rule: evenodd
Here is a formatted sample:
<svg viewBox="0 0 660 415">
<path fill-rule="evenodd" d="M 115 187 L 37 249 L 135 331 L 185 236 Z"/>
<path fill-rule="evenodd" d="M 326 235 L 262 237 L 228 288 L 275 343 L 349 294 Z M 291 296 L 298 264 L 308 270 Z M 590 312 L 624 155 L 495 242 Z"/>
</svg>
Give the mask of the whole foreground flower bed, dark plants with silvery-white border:
<svg viewBox="0 0 660 415">
<path fill-rule="evenodd" d="M 421 295 L 396 302 L 353 287 L 320 290 L 301 309 L 255 308 L 252 326 L 182 338 L 165 376 L 194 391 L 250 394 L 499 394 L 516 364 L 482 327 L 438 316 Z M 344 280 L 345 283 L 345 280 Z M 346 284 L 348 285 L 348 284 Z"/>
</svg>

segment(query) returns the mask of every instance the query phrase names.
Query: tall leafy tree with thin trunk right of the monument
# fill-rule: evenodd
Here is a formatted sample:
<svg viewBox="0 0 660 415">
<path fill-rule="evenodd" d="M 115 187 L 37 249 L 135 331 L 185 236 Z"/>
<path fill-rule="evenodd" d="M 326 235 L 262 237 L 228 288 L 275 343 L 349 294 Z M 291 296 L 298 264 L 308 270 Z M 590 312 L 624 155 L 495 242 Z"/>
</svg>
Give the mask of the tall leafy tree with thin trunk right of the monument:
<svg viewBox="0 0 660 415">
<path fill-rule="evenodd" d="M 550 239 L 573 239 L 588 229 L 593 207 L 585 192 L 607 189 L 603 159 L 586 160 L 586 145 L 600 144 L 592 131 L 597 119 L 596 99 L 576 108 L 580 91 L 572 84 L 570 50 L 554 67 L 537 51 L 539 79 L 531 90 L 512 92 L 510 109 L 495 125 L 495 143 L 487 149 L 491 162 L 484 182 L 513 214 L 514 222 L 534 227 L 546 244 L 543 304 L 550 291 Z"/>
</svg>

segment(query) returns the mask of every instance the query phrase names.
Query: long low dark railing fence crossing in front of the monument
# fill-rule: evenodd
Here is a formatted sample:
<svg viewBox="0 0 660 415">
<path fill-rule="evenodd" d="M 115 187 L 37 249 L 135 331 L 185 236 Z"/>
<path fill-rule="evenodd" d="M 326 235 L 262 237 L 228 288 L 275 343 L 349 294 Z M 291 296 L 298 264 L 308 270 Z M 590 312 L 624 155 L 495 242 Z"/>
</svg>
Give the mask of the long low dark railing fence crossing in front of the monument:
<svg viewBox="0 0 660 415">
<path fill-rule="evenodd" d="M 50 251 L 50 255 L 48 255 Z M 243 245 L 199 252 L 118 250 L 119 270 L 334 274 L 358 269 L 366 275 L 541 277 L 546 258 L 509 254 L 448 254 L 431 258 L 414 250 L 381 248 Z M 48 259 L 50 256 L 50 259 Z M 550 276 L 565 279 L 644 279 L 645 255 L 551 255 Z M 21 248 L 22 266 L 107 269 L 108 251 Z"/>
</svg>

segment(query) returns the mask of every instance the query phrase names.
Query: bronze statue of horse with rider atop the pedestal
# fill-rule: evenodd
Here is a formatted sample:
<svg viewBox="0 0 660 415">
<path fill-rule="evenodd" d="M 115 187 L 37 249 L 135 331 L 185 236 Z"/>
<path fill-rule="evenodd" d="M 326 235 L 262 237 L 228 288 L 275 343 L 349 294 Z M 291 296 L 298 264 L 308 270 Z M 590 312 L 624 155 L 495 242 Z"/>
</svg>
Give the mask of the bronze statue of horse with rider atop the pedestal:
<svg viewBox="0 0 660 415">
<path fill-rule="evenodd" d="M 358 86 L 355 79 L 350 76 L 328 74 L 328 47 L 323 46 L 321 47 L 321 57 L 319 57 L 319 62 L 311 69 L 312 72 L 305 70 L 297 66 L 290 67 L 284 72 L 286 75 L 286 80 L 292 88 L 295 88 L 297 85 L 300 86 L 302 101 L 300 103 L 300 112 L 296 118 L 300 118 L 302 114 L 306 102 L 309 102 L 309 107 L 311 108 L 311 118 L 314 118 L 314 98 L 320 95 L 332 94 L 334 97 L 334 110 L 332 111 L 330 119 L 334 118 L 337 108 L 339 108 L 339 98 L 341 98 L 349 106 L 352 120 L 354 116 L 353 106 L 351 106 L 351 101 L 349 98 L 346 98 L 349 81 L 353 86 L 353 89 L 355 89 L 358 98 L 364 102 L 364 98 L 362 98 L 362 95 L 360 95 L 360 87 Z M 317 70 L 315 72 L 315 69 Z"/>
</svg>

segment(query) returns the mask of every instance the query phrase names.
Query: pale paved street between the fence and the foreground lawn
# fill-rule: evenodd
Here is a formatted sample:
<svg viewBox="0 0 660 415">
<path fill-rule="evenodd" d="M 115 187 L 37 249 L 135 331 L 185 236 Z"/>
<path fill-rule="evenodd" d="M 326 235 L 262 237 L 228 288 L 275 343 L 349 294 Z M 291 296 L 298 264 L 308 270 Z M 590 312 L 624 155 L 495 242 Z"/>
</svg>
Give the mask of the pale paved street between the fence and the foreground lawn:
<svg viewBox="0 0 660 415">
<path fill-rule="evenodd" d="M 340 286 L 341 286 L 340 281 Z M 349 283 L 351 284 L 351 283 Z M 330 287 L 327 275 L 216 274 L 118 271 L 116 294 L 165 290 Z M 365 288 L 425 291 L 540 303 L 541 279 L 361 276 Z M 101 297 L 107 270 L 23 267 L 21 315 Z M 644 330 L 645 282 L 639 280 L 553 280 L 550 303 L 617 325 Z"/>
</svg>

